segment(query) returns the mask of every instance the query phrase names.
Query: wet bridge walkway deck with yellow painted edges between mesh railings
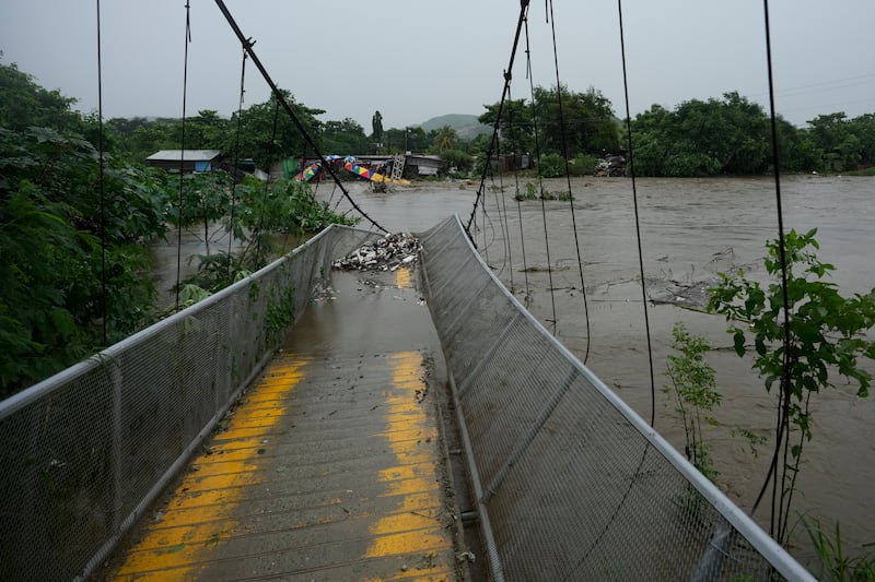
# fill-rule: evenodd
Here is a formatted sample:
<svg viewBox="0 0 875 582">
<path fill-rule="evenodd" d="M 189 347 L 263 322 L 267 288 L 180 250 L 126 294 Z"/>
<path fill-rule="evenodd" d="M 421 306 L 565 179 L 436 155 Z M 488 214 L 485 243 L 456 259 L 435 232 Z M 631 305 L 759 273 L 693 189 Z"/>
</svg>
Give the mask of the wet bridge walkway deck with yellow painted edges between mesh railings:
<svg viewBox="0 0 875 582">
<path fill-rule="evenodd" d="M 107 579 L 457 579 L 438 336 L 409 270 L 361 275 L 332 275 Z"/>
</svg>

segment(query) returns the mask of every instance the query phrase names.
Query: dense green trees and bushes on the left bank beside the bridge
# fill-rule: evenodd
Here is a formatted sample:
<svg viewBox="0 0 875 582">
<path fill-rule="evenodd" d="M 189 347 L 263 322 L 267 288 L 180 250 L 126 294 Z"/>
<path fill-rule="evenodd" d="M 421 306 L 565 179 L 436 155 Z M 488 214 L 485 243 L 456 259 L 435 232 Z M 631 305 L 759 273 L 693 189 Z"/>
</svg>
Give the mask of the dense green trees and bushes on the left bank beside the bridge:
<svg viewBox="0 0 875 582">
<path fill-rule="evenodd" d="M 232 225 L 221 174 L 209 183 L 186 180 L 179 213 L 178 177 L 131 155 L 140 152 L 135 155 L 142 159 L 154 149 L 178 149 L 178 120 L 139 118 L 124 130 L 118 120 L 106 123 L 102 168 L 96 116 L 72 110 L 74 99 L 46 91 L 14 64 L 0 63 L 0 88 L 1 399 L 160 317 L 148 244 L 163 237 L 168 223 L 182 216 L 183 226 Z M 242 142 L 242 156 L 267 157 L 273 111 L 268 103 L 253 112 L 254 136 Z M 233 135 L 226 120 L 201 111 L 190 121 L 190 134 L 201 140 L 197 146 L 225 150 Z M 268 260 L 262 234 L 302 235 L 340 219 L 296 185 L 267 190 L 246 182 L 236 199 L 233 229 L 250 252 L 246 261 L 228 262 L 241 269 Z M 233 280 L 231 269 L 224 273 Z"/>
</svg>

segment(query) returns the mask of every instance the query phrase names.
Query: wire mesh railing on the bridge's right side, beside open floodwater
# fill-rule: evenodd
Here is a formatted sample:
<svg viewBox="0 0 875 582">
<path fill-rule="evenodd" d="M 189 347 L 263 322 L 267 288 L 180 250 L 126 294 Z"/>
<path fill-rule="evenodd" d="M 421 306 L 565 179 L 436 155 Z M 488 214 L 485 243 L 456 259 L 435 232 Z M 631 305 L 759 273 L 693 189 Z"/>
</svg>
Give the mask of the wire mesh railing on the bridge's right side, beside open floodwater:
<svg viewBox="0 0 875 582">
<path fill-rule="evenodd" d="M 813 580 L 504 288 L 422 236 L 493 580 Z"/>
</svg>

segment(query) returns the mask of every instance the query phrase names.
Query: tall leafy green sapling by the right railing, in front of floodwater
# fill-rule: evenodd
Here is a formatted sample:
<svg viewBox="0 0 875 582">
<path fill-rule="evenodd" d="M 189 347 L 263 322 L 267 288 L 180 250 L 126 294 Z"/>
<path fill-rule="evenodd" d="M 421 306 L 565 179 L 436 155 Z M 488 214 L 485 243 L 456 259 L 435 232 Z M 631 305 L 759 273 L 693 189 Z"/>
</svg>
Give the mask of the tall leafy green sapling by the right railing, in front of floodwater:
<svg viewBox="0 0 875 582">
<path fill-rule="evenodd" d="M 763 287 L 743 272 L 721 274 L 711 289 L 709 311 L 734 322 L 728 332 L 739 356 L 748 352 L 747 336 L 754 338 L 752 367 L 765 379 L 766 390 L 778 382 L 779 408 L 774 461 L 783 459 L 780 490 L 773 496 L 772 531 L 782 542 L 795 490 L 802 453 L 812 435 L 810 397 L 833 387 L 841 376 L 858 385 L 858 395 L 868 395 L 872 376 L 862 369 L 860 358 L 875 359 L 875 342 L 864 333 L 875 325 L 875 289 L 868 294 L 842 297 L 835 283 L 825 281 L 835 266 L 820 262 L 815 250 L 817 230 L 791 230 L 784 237 L 786 297 L 781 285 L 781 248 L 778 240 L 767 244 L 763 264 L 771 283 Z M 789 328 L 784 324 L 784 313 Z M 744 324 L 744 326 L 740 326 Z"/>
</svg>

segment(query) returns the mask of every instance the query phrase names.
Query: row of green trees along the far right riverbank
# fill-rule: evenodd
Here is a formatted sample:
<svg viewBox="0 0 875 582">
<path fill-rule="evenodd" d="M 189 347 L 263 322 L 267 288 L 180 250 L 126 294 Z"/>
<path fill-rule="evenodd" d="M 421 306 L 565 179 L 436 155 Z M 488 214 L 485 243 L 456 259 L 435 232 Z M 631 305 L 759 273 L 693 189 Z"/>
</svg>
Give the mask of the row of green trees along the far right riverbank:
<svg viewBox="0 0 875 582">
<path fill-rule="evenodd" d="M 478 119 L 492 126 L 499 104 L 485 107 Z M 849 119 L 835 112 L 808 124 L 796 128 L 778 117 L 781 169 L 848 171 L 875 165 L 875 114 Z M 534 102 L 505 102 L 500 121 L 502 151 L 562 155 L 562 130 L 569 159 L 619 153 L 627 146 L 623 128 L 611 103 L 592 87 L 585 93 L 536 87 Z M 773 167 L 769 116 L 737 92 L 690 99 L 674 109 L 653 105 L 632 119 L 631 130 L 639 176 L 748 176 Z"/>
</svg>

